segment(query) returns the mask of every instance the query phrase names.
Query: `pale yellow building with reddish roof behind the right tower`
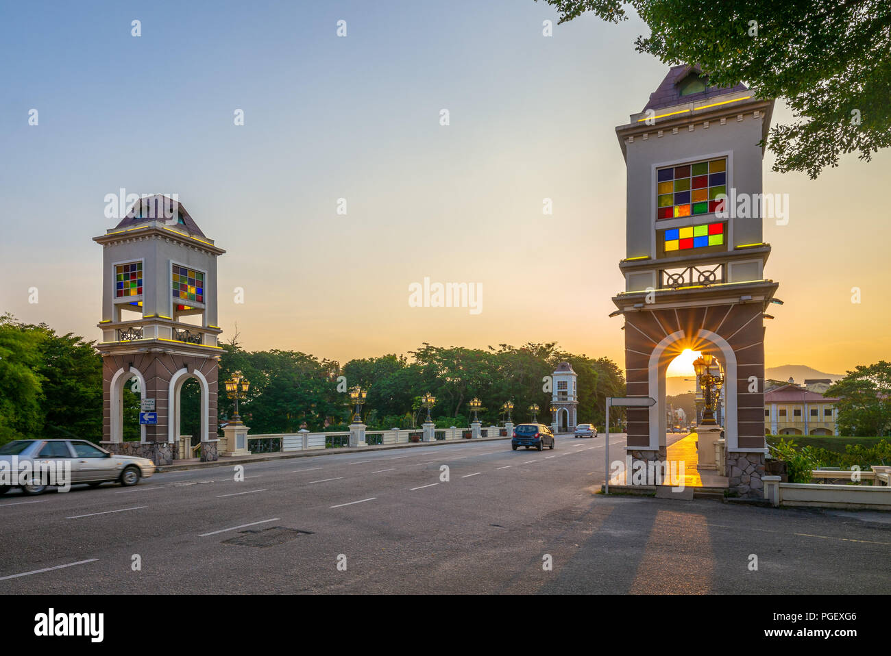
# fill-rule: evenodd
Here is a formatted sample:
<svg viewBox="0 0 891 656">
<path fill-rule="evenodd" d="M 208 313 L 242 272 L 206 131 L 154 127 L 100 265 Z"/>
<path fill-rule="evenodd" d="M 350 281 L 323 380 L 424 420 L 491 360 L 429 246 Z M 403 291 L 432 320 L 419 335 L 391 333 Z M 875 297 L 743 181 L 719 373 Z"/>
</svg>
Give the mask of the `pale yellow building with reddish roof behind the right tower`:
<svg viewBox="0 0 891 656">
<path fill-rule="evenodd" d="M 789 383 L 764 393 L 764 434 L 838 435 L 836 398 Z"/>
</svg>

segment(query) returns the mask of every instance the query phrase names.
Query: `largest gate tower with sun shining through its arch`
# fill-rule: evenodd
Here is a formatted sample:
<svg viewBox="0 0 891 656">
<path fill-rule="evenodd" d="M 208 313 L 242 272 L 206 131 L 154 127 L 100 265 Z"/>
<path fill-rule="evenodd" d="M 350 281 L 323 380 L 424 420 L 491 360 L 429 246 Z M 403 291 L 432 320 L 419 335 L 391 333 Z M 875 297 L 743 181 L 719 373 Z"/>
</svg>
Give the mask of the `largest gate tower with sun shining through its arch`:
<svg viewBox="0 0 891 656">
<path fill-rule="evenodd" d="M 627 167 L 625 317 L 627 449 L 666 458 L 666 368 L 684 349 L 725 372 L 726 472 L 740 494 L 762 494 L 764 313 L 778 285 L 764 277 L 762 157 L 772 100 L 744 85 L 715 88 L 699 67 L 675 66 L 643 111 L 616 133 Z"/>
</svg>

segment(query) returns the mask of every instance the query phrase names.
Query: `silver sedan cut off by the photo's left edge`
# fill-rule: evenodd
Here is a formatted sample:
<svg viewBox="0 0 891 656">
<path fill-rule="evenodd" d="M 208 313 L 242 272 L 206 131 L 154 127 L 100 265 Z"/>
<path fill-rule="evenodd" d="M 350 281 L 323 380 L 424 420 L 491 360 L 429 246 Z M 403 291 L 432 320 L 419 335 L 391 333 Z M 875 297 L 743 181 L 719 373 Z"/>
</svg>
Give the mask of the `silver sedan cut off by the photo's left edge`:
<svg viewBox="0 0 891 656">
<path fill-rule="evenodd" d="M 25 494 L 40 494 L 50 485 L 103 482 L 130 486 L 155 473 L 148 458 L 116 456 L 86 440 L 16 440 L 0 447 L 0 494 L 14 487 Z M 23 477 L 20 472 L 45 472 Z M 52 474 L 50 472 L 52 471 Z"/>
</svg>

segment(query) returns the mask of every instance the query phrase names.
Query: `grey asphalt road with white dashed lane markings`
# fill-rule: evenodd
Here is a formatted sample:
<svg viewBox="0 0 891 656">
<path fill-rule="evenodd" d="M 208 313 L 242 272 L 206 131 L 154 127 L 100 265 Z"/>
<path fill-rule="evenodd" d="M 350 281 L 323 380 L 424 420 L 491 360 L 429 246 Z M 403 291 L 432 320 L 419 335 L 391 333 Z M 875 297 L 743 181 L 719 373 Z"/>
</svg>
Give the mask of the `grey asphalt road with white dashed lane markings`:
<svg viewBox="0 0 891 656">
<path fill-rule="evenodd" d="M 255 463 L 241 482 L 217 467 L 13 491 L 0 498 L 0 594 L 887 592 L 887 514 L 604 497 L 603 441 L 462 441 Z M 610 443 L 621 457 L 625 436 Z"/>
</svg>

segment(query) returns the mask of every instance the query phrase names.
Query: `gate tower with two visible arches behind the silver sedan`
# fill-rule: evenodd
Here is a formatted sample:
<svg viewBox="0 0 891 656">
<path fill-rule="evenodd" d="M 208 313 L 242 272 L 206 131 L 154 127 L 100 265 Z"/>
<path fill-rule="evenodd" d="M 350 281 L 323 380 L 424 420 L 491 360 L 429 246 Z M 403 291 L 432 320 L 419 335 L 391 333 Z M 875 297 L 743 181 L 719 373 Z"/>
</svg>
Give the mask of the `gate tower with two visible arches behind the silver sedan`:
<svg viewBox="0 0 891 656">
<path fill-rule="evenodd" d="M 217 459 L 217 256 L 182 205 L 166 196 L 137 201 L 94 241 L 102 244 L 102 443 L 115 453 L 170 464 L 177 457 L 180 392 L 200 385 L 200 458 Z M 154 400 L 157 423 L 123 441 L 122 394 L 135 378 Z M 151 402 L 151 401 L 150 401 Z M 191 455 L 190 455 L 191 457 Z"/>
</svg>

